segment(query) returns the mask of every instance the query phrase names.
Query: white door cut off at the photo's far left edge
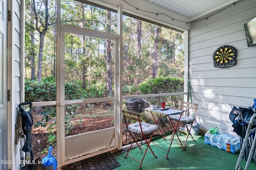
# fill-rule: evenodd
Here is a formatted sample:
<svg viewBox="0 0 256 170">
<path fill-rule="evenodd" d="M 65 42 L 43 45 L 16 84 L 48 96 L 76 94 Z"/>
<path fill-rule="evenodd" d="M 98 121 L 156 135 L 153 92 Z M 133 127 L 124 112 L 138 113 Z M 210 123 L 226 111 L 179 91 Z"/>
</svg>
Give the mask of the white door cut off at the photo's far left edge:
<svg viewBox="0 0 256 170">
<path fill-rule="evenodd" d="M 0 160 L 8 159 L 7 126 L 7 16 L 8 1 L 0 1 Z M 7 170 L 7 164 L 0 164 L 0 170 Z"/>
</svg>

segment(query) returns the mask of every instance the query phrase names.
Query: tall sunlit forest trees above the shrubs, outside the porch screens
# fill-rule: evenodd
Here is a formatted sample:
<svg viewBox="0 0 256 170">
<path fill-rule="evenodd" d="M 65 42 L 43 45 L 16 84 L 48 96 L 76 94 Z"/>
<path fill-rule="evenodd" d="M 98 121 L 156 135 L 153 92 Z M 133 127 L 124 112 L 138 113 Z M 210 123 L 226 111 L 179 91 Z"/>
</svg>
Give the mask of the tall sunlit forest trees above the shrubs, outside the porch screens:
<svg viewBox="0 0 256 170">
<path fill-rule="evenodd" d="M 62 23 L 117 34 L 115 12 L 74 0 L 61 2 Z M 56 77 L 56 1 L 26 0 L 25 18 L 26 79 L 41 82 Z M 66 45 L 65 54 L 65 72 L 69 74 L 66 82 L 80 84 L 87 90 L 88 97 L 111 95 L 113 86 L 107 84 L 113 84 L 114 77 L 109 79 L 110 74 L 106 74 L 114 72 L 110 45 L 105 45 L 104 53 L 99 53 L 101 42 L 92 42 L 91 37 L 65 38 L 70 45 L 70 48 Z M 183 33 L 123 16 L 122 45 L 123 95 L 138 94 L 135 89 L 139 84 L 152 78 L 184 77 Z M 91 94 L 90 88 L 98 89 L 98 94 Z"/>
</svg>

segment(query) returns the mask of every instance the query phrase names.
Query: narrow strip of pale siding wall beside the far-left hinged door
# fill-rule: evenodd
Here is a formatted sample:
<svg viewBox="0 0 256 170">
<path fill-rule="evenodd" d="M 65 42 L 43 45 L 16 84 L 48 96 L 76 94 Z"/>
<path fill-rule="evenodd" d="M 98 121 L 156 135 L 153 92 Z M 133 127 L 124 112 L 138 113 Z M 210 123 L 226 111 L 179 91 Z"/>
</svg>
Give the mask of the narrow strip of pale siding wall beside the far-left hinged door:
<svg viewBox="0 0 256 170">
<path fill-rule="evenodd" d="M 11 100 L 8 102 L 8 114 L 11 115 L 8 123 L 11 124 L 8 138 L 8 160 L 24 159 L 24 152 L 21 148 L 24 145 L 24 139 L 18 139 L 17 129 L 20 127 L 20 117 L 18 113 L 18 104 L 24 101 L 24 37 L 23 37 L 23 16 L 24 1 L 10 0 L 9 10 L 11 11 L 11 21 L 9 24 L 9 47 L 8 47 L 8 89 L 11 89 Z M 19 164 L 10 164 L 8 168 L 19 170 Z"/>
</svg>

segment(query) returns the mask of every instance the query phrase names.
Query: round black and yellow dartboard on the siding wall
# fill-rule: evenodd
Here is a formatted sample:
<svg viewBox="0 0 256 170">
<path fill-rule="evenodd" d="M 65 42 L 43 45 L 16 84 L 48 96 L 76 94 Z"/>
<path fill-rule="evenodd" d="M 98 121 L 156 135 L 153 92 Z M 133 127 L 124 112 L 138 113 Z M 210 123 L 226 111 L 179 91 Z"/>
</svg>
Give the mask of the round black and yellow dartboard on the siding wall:
<svg viewBox="0 0 256 170">
<path fill-rule="evenodd" d="M 227 68 L 236 64 L 236 49 L 230 45 L 224 45 L 213 53 L 214 67 Z"/>
</svg>

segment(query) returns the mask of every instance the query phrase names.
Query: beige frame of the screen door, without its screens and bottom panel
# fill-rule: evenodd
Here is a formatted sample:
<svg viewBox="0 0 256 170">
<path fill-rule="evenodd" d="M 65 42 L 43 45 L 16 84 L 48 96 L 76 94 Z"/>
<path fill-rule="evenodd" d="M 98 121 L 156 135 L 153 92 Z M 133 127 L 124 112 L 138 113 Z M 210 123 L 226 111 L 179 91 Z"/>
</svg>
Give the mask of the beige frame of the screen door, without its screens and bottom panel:
<svg viewBox="0 0 256 170">
<path fill-rule="evenodd" d="M 65 89 L 64 89 L 64 68 L 65 68 L 65 63 L 64 63 L 64 33 L 74 33 L 74 34 L 80 34 L 80 35 L 86 35 L 86 36 L 91 36 L 91 37 L 96 37 L 96 38 L 101 38 L 101 39 L 109 39 L 112 41 L 115 41 L 115 70 L 114 70 L 114 84 L 115 84 L 115 92 L 114 92 L 114 97 L 107 97 L 107 98 L 93 98 L 93 99 L 81 99 L 81 100 L 66 100 L 65 101 Z M 57 106 L 56 106 L 56 115 L 57 115 L 57 152 L 60 153 L 60 166 L 70 164 L 72 162 L 76 162 L 85 158 L 89 158 L 92 156 L 96 156 L 98 154 L 102 154 L 104 152 L 108 152 L 111 150 L 115 150 L 119 148 L 120 135 L 120 125 L 122 125 L 122 119 L 120 119 L 120 106 L 122 105 L 122 94 L 120 94 L 120 87 L 118 80 L 120 79 L 120 62 L 122 59 L 120 59 L 120 55 L 118 53 L 119 47 L 119 35 L 112 34 L 112 33 L 106 33 L 106 32 L 101 32 L 101 31 L 95 31 L 91 29 L 86 29 L 86 28 L 80 28 L 80 27 L 75 27 L 71 25 L 64 25 L 60 24 L 60 55 L 57 55 L 57 82 L 56 82 L 56 87 L 57 87 Z M 115 104 L 115 109 L 114 109 L 114 128 L 108 128 L 108 129 L 102 129 L 100 131 L 114 131 L 114 147 L 110 147 L 108 149 L 92 152 L 90 154 L 86 154 L 84 156 L 79 156 L 76 158 L 68 159 L 66 160 L 66 155 L 65 155 L 65 147 L 66 147 L 66 140 L 70 139 L 70 137 L 65 137 L 65 106 L 66 105 L 72 105 L 72 104 L 87 104 L 87 103 L 96 103 L 96 102 L 108 102 L 108 101 L 114 101 Z M 91 133 L 90 133 L 91 135 Z M 82 135 L 81 135 L 82 136 Z M 60 146 L 60 147 L 58 147 Z"/>
</svg>

